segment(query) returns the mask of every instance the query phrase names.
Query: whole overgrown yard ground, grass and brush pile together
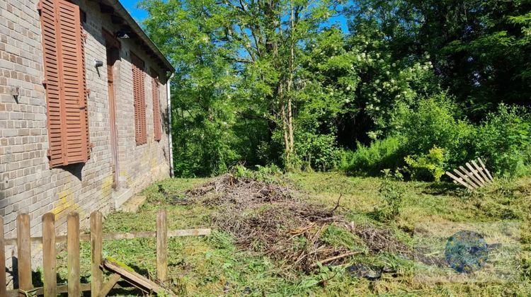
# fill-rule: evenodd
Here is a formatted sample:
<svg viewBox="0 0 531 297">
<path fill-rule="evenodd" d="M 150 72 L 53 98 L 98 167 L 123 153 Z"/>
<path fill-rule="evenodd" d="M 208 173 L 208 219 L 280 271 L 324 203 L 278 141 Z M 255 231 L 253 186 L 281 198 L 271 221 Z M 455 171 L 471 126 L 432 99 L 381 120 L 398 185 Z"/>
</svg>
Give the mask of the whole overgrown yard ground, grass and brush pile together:
<svg viewBox="0 0 531 297">
<path fill-rule="evenodd" d="M 169 283 L 181 296 L 404 293 L 527 296 L 531 293 L 531 217 L 528 211 L 531 189 L 527 177 L 510 182 L 500 180 L 470 194 L 447 184 L 402 182 L 399 176 L 391 173 L 387 173 L 387 180 L 347 177 L 338 173 L 269 177 L 275 182 L 270 179 L 259 182 L 249 174 L 253 173 L 244 173 L 248 177 L 242 175 L 239 177 L 241 183 L 232 180 L 233 184 L 227 183 L 230 181 L 227 176 L 215 180 L 158 182 L 144 190 L 148 202 L 138 213 L 108 215 L 103 223 L 104 232 L 152 231 L 156 210 L 161 207 L 168 211 L 169 229 L 213 228 L 212 235 L 204 238 L 169 240 Z M 285 190 L 290 191 L 289 196 Z M 249 195 L 240 196 L 241 193 Z M 297 204 L 295 209 L 304 205 L 322 205 L 313 210 L 310 207 L 310 210 L 329 217 L 340 196 L 340 206 L 333 215 L 336 218 L 341 216 L 346 223 L 329 221 L 324 225 L 309 226 L 305 214 L 312 212 L 300 213 L 289 207 L 283 208 L 292 203 Z M 280 200 L 263 202 L 268 197 Z M 272 215 L 274 210 L 282 209 L 285 210 L 282 215 Z M 375 216 L 380 211 L 390 216 Z M 224 219 L 224 216 L 230 219 Z M 416 269 L 424 264 L 418 257 L 408 257 L 407 252 L 414 252 L 411 248 L 414 226 L 426 219 L 443 224 L 520 222 L 519 265 L 512 267 L 518 269 L 520 279 L 499 284 L 416 283 L 413 281 Z M 304 231 L 298 228 L 297 222 L 309 228 Z M 309 245 L 314 235 L 317 235 L 315 243 L 318 245 Z M 278 245 L 278 250 L 268 252 L 275 248 L 275 238 L 281 240 L 282 245 Z M 155 245 L 154 239 L 114 240 L 105 241 L 103 248 L 105 256 L 114 257 L 141 274 L 154 276 Z M 307 253 L 321 245 L 329 250 L 353 252 L 353 255 L 305 269 L 320 259 Z M 304 250 L 304 247 L 308 249 Z M 81 245 L 81 271 L 87 280 L 90 277 L 89 250 L 89 243 Z M 302 266 L 299 264 L 302 260 L 293 265 L 297 258 L 285 260 L 286 255 L 308 255 L 309 258 Z M 436 259 L 432 260 L 435 262 Z M 66 257 L 59 257 L 59 266 L 66 267 Z M 66 269 L 60 268 L 58 272 L 65 276 Z M 114 293 L 135 296 L 137 292 L 118 290 Z"/>
</svg>

